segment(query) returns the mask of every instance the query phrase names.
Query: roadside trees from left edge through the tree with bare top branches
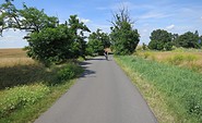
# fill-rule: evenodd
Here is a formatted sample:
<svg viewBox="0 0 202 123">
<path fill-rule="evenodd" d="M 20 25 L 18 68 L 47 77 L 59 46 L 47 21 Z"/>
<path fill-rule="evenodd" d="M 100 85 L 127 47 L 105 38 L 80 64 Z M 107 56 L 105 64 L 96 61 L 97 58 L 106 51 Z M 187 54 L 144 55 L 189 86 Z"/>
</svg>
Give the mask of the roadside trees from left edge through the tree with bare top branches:
<svg viewBox="0 0 202 123">
<path fill-rule="evenodd" d="M 16 9 L 12 1 L 5 0 L 0 5 L 0 34 L 7 28 L 26 30 L 27 54 L 46 66 L 68 59 L 85 58 L 86 54 L 103 54 L 104 49 L 111 45 L 115 53 L 130 54 L 140 41 L 140 35 L 133 29 L 126 9 L 114 14 L 110 34 L 97 29 L 90 35 L 87 42 L 84 33 L 91 30 L 76 15 L 70 15 L 62 24 L 58 17 L 48 16 L 44 10 L 25 3 L 23 9 Z"/>
</svg>

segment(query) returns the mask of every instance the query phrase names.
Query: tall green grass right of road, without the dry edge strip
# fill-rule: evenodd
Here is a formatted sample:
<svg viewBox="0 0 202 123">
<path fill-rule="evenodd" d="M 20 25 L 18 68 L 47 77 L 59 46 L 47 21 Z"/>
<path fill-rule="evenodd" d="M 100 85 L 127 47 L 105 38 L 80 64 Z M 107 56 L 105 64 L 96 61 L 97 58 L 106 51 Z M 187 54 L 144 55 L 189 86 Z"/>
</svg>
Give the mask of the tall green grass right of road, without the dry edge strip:
<svg viewBox="0 0 202 123">
<path fill-rule="evenodd" d="M 117 59 L 166 97 L 167 106 L 175 112 L 178 122 L 202 122 L 201 74 L 139 57 L 128 56 Z"/>
</svg>

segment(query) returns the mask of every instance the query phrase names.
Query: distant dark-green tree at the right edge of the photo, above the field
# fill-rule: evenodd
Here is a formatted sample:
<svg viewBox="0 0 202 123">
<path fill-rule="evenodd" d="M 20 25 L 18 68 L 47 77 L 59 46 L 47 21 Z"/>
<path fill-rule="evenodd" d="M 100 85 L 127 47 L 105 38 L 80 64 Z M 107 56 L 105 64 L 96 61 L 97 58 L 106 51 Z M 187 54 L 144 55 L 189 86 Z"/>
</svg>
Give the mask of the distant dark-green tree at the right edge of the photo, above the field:
<svg viewBox="0 0 202 123">
<path fill-rule="evenodd" d="M 183 47 L 183 48 L 200 48 L 199 44 L 199 34 L 195 32 L 195 34 L 191 32 L 187 32 L 182 35 L 180 35 L 176 39 L 176 46 L 177 47 Z"/>
</svg>

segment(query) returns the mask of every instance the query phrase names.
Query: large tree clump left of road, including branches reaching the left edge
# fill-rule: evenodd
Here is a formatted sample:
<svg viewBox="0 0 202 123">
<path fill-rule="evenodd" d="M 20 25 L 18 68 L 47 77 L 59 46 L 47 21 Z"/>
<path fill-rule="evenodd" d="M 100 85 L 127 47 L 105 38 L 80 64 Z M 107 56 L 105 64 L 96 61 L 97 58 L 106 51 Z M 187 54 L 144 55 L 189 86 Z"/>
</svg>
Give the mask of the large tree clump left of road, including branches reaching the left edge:
<svg viewBox="0 0 202 123">
<path fill-rule="evenodd" d="M 50 64 L 64 62 L 67 59 L 85 57 L 85 32 L 90 32 L 76 15 L 71 15 L 64 24 L 59 24 L 55 16 L 48 16 L 44 10 L 28 8 L 23 4 L 17 10 L 11 1 L 0 7 L 1 32 L 5 28 L 16 28 L 29 32 L 26 36 L 27 54 L 44 63 Z"/>
</svg>

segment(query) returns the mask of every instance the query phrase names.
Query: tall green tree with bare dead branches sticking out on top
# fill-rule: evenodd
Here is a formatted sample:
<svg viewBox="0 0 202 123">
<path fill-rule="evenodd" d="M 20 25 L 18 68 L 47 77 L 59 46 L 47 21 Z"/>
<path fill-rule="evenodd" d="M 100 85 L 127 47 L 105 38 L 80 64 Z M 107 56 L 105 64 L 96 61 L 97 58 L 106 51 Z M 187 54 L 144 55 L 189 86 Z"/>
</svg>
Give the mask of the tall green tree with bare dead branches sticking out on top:
<svg viewBox="0 0 202 123">
<path fill-rule="evenodd" d="M 140 41 L 138 29 L 133 29 L 133 22 L 127 9 L 114 14 L 110 38 L 112 49 L 117 54 L 131 54 Z"/>
</svg>

